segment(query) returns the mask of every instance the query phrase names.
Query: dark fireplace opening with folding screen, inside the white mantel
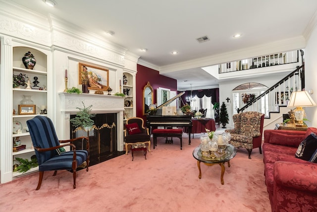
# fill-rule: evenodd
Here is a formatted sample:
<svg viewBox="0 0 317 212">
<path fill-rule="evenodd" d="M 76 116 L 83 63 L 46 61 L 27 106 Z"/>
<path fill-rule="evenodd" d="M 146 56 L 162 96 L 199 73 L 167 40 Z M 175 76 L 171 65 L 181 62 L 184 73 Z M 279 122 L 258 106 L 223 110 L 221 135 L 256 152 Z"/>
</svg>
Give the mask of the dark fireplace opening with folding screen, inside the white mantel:
<svg viewBox="0 0 317 212">
<path fill-rule="evenodd" d="M 71 115 L 70 118 L 75 118 Z M 117 150 L 117 133 L 116 133 L 116 113 L 96 114 L 92 118 L 94 120 L 94 128 L 87 132 L 75 129 L 70 123 L 70 138 L 78 138 L 81 136 L 89 137 L 89 153 L 90 164 L 100 163 L 107 157 L 116 154 Z M 74 143 L 76 148 L 82 149 L 82 142 Z"/>
</svg>

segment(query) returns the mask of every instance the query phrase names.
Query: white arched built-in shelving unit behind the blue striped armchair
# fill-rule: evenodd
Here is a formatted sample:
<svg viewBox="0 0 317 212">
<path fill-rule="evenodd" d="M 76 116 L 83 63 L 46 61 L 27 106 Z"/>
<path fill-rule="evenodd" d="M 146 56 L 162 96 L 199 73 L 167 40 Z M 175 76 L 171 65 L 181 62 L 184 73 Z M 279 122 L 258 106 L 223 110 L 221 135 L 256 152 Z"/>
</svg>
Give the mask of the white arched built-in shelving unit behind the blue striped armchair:
<svg viewBox="0 0 317 212">
<path fill-rule="evenodd" d="M 25 53 L 31 52 L 36 59 L 36 65 L 34 69 L 25 69 L 22 63 L 22 57 Z M 20 140 L 21 145 L 26 145 L 26 148 L 20 151 L 14 152 L 12 149 L 12 165 L 19 164 L 15 160 L 16 157 L 29 159 L 31 160 L 31 156 L 35 154 L 34 147 L 32 145 L 32 140 L 30 137 L 30 133 L 28 132 L 26 121 L 32 119 L 37 115 L 47 116 L 45 111 L 48 110 L 48 102 L 47 102 L 47 55 L 38 49 L 29 48 L 25 46 L 16 46 L 13 47 L 13 63 L 12 63 L 12 72 L 13 74 L 24 73 L 28 77 L 31 82 L 31 87 L 39 86 L 38 89 L 30 88 L 26 89 L 24 86 L 19 86 L 18 88 L 12 88 L 12 121 L 13 123 L 18 123 L 19 132 L 12 132 L 12 147 L 14 140 Z M 35 81 L 35 77 L 37 77 L 38 83 L 33 83 Z M 19 105 L 23 106 L 24 104 L 21 100 L 24 98 L 24 95 L 31 96 L 31 100 L 33 101 L 34 109 L 32 114 L 20 114 Z M 46 109 L 46 110 L 44 110 Z M 12 178 L 18 177 L 21 175 L 26 175 L 28 173 L 37 171 L 38 167 L 31 168 L 27 172 L 13 172 L 12 166 Z"/>
</svg>

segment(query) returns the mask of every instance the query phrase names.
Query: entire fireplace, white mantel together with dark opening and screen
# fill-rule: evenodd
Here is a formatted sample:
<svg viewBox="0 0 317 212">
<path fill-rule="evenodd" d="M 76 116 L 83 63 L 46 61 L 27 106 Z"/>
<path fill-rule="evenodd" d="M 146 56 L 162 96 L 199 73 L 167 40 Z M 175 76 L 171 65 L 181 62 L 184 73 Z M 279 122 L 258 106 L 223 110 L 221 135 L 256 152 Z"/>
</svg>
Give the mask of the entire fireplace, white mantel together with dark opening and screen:
<svg viewBox="0 0 317 212">
<path fill-rule="evenodd" d="M 93 118 L 96 129 L 89 132 L 91 164 L 102 162 L 123 152 L 124 98 L 114 95 L 90 93 L 78 95 L 66 92 L 59 93 L 59 97 L 60 118 L 64 120 L 60 129 L 65 140 L 79 136 L 87 137 L 87 132 L 84 131 L 73 133 L 74 127 L 69 120 L 76 116 L 78 108 L 83 108 L 83 103 L 86 107 L 92 105 L 91 113 L 96 114 Z M 104 124 L 108 127 L 102 127 Z"/>
</svg>

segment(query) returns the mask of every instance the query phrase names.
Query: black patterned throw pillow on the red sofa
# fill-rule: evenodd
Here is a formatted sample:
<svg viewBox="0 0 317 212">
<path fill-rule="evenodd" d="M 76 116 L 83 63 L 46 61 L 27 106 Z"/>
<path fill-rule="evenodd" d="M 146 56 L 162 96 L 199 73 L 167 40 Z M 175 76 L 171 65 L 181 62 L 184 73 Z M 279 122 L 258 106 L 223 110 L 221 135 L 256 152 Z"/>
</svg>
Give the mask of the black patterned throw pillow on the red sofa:
<svg viewBox="0 0 317 212">
<path fill-rule="evenodd" d="M 317 149 L 317 136 L 314 133 L 311 133 L 308 137 L 302 141 L 298 149 L 295 153 L 295 157 L 310 161 L 313 154 L 316 152 Z"/>
</svg>

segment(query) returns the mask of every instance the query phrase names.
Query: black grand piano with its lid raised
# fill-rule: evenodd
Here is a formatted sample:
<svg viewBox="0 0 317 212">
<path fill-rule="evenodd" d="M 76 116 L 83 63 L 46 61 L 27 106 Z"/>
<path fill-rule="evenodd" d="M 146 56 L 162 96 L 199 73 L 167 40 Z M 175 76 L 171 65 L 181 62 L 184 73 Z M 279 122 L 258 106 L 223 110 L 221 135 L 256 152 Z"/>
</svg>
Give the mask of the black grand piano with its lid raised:
<svg viewBox="0 0 317 212">
<path fill-rule="evenodd" d="M 151 129 L 157 127 L 187 127 L 188 128 L 188 145 L 190 145 L 190 134 L 192 132 L 192 116 L 191 115 L 162 115 L 162 107 L 169 105 L 175 99 L 179 98 L 185 92 L 181 92 L 173 98 L 167 100 L 165 103 L 157 107 L 156 115 L 147 115 L 146 126 Z M 177 114 L 181 114 L 178 112 Z"/>
</svg>

